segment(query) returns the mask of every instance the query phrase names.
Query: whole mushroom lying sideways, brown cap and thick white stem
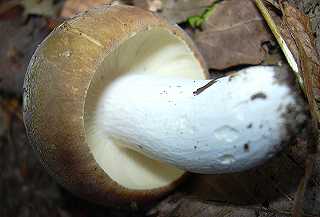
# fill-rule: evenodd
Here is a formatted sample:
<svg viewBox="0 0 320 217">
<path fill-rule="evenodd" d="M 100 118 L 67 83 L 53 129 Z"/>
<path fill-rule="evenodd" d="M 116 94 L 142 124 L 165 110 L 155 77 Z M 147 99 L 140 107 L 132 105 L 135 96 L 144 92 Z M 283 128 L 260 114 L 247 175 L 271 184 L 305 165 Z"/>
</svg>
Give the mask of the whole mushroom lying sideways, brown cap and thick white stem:
<svg viewBox="0 0 320 217">
<path fill-rule="evenodd" d="M 23 104 L 47 170 L 104 204 L 159 198 L 185 171 L 255 167 L 307 119 L 287 70 L 256 66 L 210 80 L 183 30 L 120 5 L 65 21 L 41 43 Z"/>
</svg>

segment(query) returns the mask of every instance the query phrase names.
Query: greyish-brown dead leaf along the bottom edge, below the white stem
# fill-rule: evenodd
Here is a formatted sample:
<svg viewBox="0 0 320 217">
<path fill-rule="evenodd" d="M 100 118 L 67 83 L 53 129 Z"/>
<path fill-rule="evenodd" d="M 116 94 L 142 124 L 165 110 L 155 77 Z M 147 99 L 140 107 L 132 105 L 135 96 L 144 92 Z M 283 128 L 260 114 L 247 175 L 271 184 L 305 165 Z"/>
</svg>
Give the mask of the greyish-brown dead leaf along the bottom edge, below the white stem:
<svg viewBox="0 0 320 217">
<path fill-rule="evenodd" d="M 281 200 L 278 200 L 277 203 L 281 203 Z M 147 213 L 147 216 L 289 217 L 291 213 L 290 210 L 288 210 L 288 203 L 285 204 L 284 206 L 273 206 L 273 204 L 269 204 L 268 207 L 261 204 L 235 206 L 223 202 L 200 201 L 187 195 L 176 193 L 157 204 Z M 316 215 L 307 213 L 305 213 L 305 216 L 316 217 Z"/>
</svg>

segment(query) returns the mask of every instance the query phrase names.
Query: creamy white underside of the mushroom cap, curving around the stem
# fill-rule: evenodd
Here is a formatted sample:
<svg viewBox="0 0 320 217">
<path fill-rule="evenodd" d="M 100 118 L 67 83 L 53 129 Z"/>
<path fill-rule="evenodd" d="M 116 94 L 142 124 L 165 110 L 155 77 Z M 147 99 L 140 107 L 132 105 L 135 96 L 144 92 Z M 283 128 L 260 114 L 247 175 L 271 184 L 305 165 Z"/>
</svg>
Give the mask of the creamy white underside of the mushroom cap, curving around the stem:
<svg viewBox="0 0 320 217">
<path fill-rule="evenodd" d="M 124 74 L 204 79 L 204 72 L 189 47 L 161 28 L 141 32 L 109 54 L 95 73 L 86 97 L 85 128 L 89 148 L 100 167 L 115 182 L 135 190 L 164 187 L 185 172 L 123 148 L 99 128 L 97 112 L 110 81 Z"/>
</svg>

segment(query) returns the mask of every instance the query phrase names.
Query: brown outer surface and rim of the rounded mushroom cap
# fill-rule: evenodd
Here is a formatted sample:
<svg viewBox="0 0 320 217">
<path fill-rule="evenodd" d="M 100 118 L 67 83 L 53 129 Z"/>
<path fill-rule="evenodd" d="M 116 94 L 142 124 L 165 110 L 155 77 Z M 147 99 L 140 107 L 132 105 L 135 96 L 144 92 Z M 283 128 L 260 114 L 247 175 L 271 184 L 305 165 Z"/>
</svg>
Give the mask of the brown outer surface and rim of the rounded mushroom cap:
<svg viewBox="0 0 320 217">
<path fill-rule="evenodd" d="M 45 168 L 75 194 L 108 205 L 159 198 L 182 177 L 161 188 L 128 189 L 108 176 L 87 144 L 85 102 L 90 83 L 110 53 L 134 35 L 161 28 L 183 41 L 205 72 L 189 37 L 177 26 L 142 9 L 106 5 L 57 27 L 38 47 L 24 83 L 24 121 Z M 108 73 L 108 72 L 106 72 Z"/>
</svg>

